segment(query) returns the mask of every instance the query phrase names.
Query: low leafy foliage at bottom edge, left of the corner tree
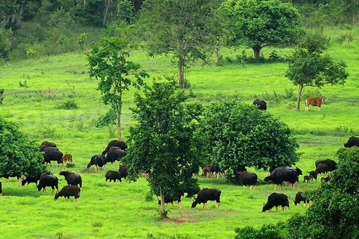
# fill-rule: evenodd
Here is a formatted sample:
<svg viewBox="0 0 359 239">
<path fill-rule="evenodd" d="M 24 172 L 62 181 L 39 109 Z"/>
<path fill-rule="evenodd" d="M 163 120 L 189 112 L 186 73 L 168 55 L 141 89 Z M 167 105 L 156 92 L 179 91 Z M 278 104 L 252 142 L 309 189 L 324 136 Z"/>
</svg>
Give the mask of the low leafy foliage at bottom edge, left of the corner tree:
<svg viewBox="0 0 359 239">
<path fill-rule="evenodd" d="M 235 239 L 284 239 L 273 224 L 264 224 L 260 229 L 253 229 L 249 226 L 234 229 Z"/>
</svg>

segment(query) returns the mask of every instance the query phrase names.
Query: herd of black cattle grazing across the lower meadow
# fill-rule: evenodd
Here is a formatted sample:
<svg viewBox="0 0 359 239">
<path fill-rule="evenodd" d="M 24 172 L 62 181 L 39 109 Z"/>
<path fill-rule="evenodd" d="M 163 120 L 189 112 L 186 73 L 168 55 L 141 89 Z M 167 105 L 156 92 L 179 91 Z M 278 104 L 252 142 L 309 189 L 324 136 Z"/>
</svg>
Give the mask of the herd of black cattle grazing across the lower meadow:
<svg viewBox="0 0 359 239">
<path fill-rule="evenodd" d="M 351 148 L 353 146 L 359 147 L 359 138 L 351 136 L 348 139 L 348 142 L 344 144 L 344 147 Z M 120 161 L 122 157 L 126 156 L 126 149 L 127 145 L 123 141 L 118 140 L 112 140 L 108 143 L 106 149 L 103 150 L 101 154 L 92 156 L 89 164 L 87 165 L 87 168 L 90 168 L 92 165 L 95 166 L 95 171 L 99 170 L 102 171 L 102 167 L 107 162 L 114 163 L 115 161 Z M 59 164 L 63 164 L 66 161 L 73 162 L 71 154 L 65 154 L 63 155 L 62 152 L 56 147 L 56 144 L 53 142 L 43 142 L 41 146 L 39 146 L 40 152 L 44 152 L 44 163 L 51 163 L 51 161 L 56 161 Z M 319 174 L 324 174 L 326 177 L 322 177 L 321 181 L 327 182 L 330 180 L 330 176 L 328 175 L 329 172 L 334 171 L 337 168 L 337 164 L 332 159 L 319 159 L 315 162 L 316 169 L 314 171 L 308 172 L 309 175 L 305 175 L 303 177 L 303 183 L 304 182 L 312 182 L 315 180 L 317 182 L 317 176 Z M 218 177 L 220 174 L 222 174 L 223 171 L 220 170 L 220 168 L 216 165 L 211 164 L 210 166 L 204 166 L 202 167 L 202 176 L 211 176 L 211 177 Z M 20 175 L 2 175 L 0 177 L 4 177 L 7 180 L 9 177 L 17 177 L 18 180 L 21 180 L 22 186 L 24 186 L 26 183 L 36 183 L 36 187 L 38 191 L 41 191 L 43 189 L 44 192 L 46 192 L 46 187 L 51 187 L 52 192 L 56 188 L 56 194 L 55 194 L 55 200 L 59 197 L 64 197 L 65 199 L 70 199 L 70 196 L 74 196 L 75 200 L 78 200 L 80 197 L 80 191 L 82 188 L 82 178 L 79 174 L 70 172 L 67 170 L 62 170 L 59 175 L 64 176 L 65 180 L 68 185 L 64 186 L 60 191 L 58 188 L 58 182 L 59 179 L 52 175 L 51 171 L 41 173 L 39 175 L 28 175 L 27 177 L 20 177 Z M 292 185 L 292 188 L 294 188 L 295 183 L 299 182 L 299 175 L 303 175 L 302 170 L 297 168 L 290 168 L 290 167 L 276 167 L 272 170 L 270 170 L 269 175 L 267 175 L 264 178 L 264 181 L 272 181 L 275 183 L 275 190 L 278 187 L 278 185 L 281 186 L 282 190 L 282 184 L 283 182 L 288 182 Z M 126 179 L 127 177 L 127 165 L 122 164 L 120 165 L 120 168 L 118 171 L 107 171 L 105 178 L 106 182 L 109 180 L 116 182 L 116 180 L 121 181 L 122 178 Z M 247 171 L 238 172 L 238 179 L 239 182 L 245 186 L 251 186 L 250 189 L 253 187 L 255 188 L 258 177 L 255 173 L 249 173 Z M 0 196 L 2 195 L 2 187 L 0 182 Z M 194 197 L 194 195 L 197 194 L 197 197 L 194 197 L 192 207 L 195 207 L 197 204 L 203 203 L 203 208 L 207 206 L 208 201 L 216 201 L 217 207 L 220 205 L 220 195 L 222 193 L 221 190 L 218 188 L 197 188 L 196 190 L 192 190 L 191 192 L 186 191 L 187 196 Z M 184 193 L 182 192 L 181 195 L 178 195 L 178 197 L 171 197 L 169 195 L 165 195 L 164 201 L 166 204 L 172 203 L 173 201 L 178 201 L 178 206 L 181 207 L 181 197 L 184 196 Z M 293 200 L 294 204 L 300 204 L 300 202 L 304 203 L 304 206 L 307 204 L 309 206 L 309 199 L 306 199 L 302 196 L 302 192 L 297 192 L 295 199 Z M 160 204 L 160 201 L 158 201 Z M 288 196 L 284 193 L 272 193 L 269 195 L 267 203 L 263 205 L 262 212 L 269 210 L 273 207 L 278 210 L 278 206 L 281 206 L 282 210 L 284 211 L 286 207 L 289 208 L 289 200 Z"/>
</svg>

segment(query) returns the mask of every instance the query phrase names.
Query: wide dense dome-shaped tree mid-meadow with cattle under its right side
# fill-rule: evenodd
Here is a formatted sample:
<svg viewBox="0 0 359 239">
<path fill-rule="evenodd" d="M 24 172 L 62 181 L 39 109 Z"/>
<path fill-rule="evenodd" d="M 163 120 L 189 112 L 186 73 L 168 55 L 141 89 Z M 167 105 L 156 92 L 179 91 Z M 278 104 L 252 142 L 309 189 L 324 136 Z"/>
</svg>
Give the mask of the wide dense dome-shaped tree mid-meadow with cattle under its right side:
<svg viewBox="0 0 359 239">
<path fill-rule="evenodd" d="M 199 128 L 202 152 L 209 162 L 228 170 L 237 183 L 245 167 L 270 169 L 298 161 L 298 143 L 289 127 L 273 115 L 236 98 L 216 101 L 203 113 Z"/>
</svg>

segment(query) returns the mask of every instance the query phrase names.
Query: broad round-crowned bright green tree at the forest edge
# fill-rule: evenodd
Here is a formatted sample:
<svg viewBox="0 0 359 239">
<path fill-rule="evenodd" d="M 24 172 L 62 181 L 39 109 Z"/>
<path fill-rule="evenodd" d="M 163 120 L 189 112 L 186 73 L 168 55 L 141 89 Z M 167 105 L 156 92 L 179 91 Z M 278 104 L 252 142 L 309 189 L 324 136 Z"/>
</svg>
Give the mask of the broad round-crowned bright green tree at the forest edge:
<svg viewBox="0 0 359 239">
<path fill-rule="evenodd" d="M 221 8 L 233 44 L 252 48 L 255 58 L 263 47 L 289 44 L 299 37 L 299 12 L 290 3 L 227 0 Z"/>
</svg>

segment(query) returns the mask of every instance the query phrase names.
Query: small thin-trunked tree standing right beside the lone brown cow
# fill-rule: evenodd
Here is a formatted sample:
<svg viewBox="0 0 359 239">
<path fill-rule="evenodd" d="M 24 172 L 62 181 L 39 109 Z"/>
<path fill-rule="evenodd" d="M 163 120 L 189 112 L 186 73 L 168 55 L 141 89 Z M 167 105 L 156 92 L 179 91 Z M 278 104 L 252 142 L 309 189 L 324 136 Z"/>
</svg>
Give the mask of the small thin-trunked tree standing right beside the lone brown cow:
<svg viewBox="0 0 359 239">
<path fill-rule="evenodd" d="M 293 52 L 286 77 L 298 86 L 297 110 L 303 88 L 325 85 L 344 85 L 348 73 L 344 62 L 336 63 L 330 56 L 323 55 L 328 40 L 320 34 L 308 34 Z"/>
</svg>

